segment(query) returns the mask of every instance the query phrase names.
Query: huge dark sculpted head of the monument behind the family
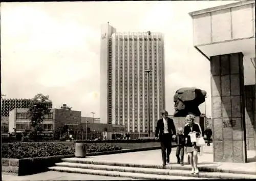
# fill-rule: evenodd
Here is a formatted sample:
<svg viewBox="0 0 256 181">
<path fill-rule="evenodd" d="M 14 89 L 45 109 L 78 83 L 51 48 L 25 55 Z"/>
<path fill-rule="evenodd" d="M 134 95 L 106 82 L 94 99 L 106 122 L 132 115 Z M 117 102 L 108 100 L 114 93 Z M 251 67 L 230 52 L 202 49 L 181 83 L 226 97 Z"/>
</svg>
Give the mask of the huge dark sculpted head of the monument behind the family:
<svg viewBox="0 0 256 181">
<path fill-rule="evenodd" d="M 183 87 L 174 95 L 174 117 L 185 117 L 188 114 L 200 116 L 198 108 L 205 101 L 206 91 L 195 87 Z"/>
</svg>

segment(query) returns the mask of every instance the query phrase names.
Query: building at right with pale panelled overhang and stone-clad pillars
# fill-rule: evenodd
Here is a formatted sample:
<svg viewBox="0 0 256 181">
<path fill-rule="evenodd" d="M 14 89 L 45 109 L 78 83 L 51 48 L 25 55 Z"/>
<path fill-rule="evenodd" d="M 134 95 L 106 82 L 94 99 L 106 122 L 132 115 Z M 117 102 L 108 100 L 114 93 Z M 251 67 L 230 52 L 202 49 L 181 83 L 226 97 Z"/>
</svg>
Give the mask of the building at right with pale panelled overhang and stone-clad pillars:
<svg viewBox="0 0 256 181">
<path fill-rule="evenodd" d="M 256 150 L 255 2 L 189 13 L 194 47 L 210 61 L 215 162 L 247 162 Z"/>
</svg>

